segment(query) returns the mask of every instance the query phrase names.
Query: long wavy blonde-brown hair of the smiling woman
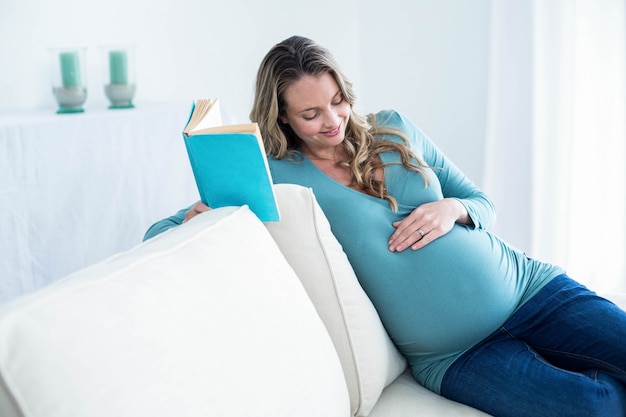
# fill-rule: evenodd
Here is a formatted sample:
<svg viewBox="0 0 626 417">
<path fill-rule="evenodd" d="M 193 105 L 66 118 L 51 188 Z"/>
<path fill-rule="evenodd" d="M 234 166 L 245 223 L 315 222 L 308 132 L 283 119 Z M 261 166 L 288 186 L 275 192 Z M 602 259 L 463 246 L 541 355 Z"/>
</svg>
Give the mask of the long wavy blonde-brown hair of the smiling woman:
<svg viewBox="0 0 626 417">
<path fill-rule="evenodd" d="M 328 50 L 305 37 L 292 36 L 276 44 L 259 66 L 250 120 L 259 124 L 265 151 L 277 159 L 302 158 L 298 151 L 300 138 L 288 124 L 281 122 L 287 107 L 285 91 L 304 75 L 318 76 L 323 73 L 335 79 L 351 108 L 346 137 L 342 142 L 347 157 L 339 164 L 350 168 L 355 189 L 385 199 L 393 210 L 397 210 L 397 202 L 387 192 L 384 182 L 376 181 L 374 177 L 376 170 L 384 167 L 376 156 L 383 152 L 396 152 L 400 163 L 420 173 L 428 184 L 426 164 L 409 149 L 407 138 L 400 130 L 377 126 L 374 115 L 362 116 L 354 111 L 352 83 L 341 73 Z M 397 136 L 401 141 L 386 140 L 385 135 Z"/>
</svg>

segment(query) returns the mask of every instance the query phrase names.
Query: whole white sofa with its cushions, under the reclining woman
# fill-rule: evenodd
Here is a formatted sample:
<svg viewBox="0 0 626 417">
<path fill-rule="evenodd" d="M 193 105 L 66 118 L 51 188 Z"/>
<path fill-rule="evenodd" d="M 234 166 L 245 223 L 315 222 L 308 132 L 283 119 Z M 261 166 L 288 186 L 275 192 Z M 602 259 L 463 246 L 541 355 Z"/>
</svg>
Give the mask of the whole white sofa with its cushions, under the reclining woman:
<svg viewBox="0 0 626 417">
<path fill-rule="evenodd" d="M 0 306 L 0 416 L 485 416 L 419 386 L 313 194 L 209 211 Z"/>
</svg>

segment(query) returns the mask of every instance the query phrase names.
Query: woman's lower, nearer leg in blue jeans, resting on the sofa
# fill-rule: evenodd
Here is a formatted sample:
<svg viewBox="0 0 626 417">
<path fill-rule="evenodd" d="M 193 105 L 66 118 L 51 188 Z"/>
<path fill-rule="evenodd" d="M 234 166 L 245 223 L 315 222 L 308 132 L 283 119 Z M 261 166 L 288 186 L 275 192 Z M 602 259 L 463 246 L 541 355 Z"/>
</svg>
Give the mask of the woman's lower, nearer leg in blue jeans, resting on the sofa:
<svg viewBox="0 0 626 417">
<path fill-rule="evenodd" d="M 624 416 L 626 390 L 609 376 L 565 371 L 502 334 L 446 372 L 441 393 L 496 417 Z"/>
</svg>

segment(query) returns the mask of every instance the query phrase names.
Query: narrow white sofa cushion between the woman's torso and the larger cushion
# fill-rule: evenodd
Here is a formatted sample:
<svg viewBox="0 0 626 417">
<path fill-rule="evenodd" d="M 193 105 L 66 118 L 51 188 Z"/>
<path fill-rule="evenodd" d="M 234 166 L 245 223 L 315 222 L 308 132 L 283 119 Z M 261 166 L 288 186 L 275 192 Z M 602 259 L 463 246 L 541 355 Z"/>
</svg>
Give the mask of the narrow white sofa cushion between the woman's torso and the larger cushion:
<svg viewBox="0 0 626 417">
<path fill-rule="evenodd" d="M 266 223 L 326 324 L 343 366 L 352 415 L 366 416 L 406 368 L 309 188 L 277 184 L 281 221 Z"/>
</svg>

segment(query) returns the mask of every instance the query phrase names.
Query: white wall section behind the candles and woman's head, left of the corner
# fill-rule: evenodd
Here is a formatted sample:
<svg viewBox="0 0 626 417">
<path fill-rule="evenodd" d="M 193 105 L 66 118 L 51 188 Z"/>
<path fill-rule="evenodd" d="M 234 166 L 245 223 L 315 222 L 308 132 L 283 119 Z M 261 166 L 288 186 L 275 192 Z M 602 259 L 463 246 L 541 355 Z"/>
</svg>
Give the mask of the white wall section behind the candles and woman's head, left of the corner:
<svg viewBox="0 0 626 417">
<path fill-rule="evenodd" d="M 321 0 L 305 11 L 289 0 L 2 0 L 0 111 L 54 109 L 48 49 L 66 46 L 88 48 L 85 109 L 105 107 L 99 47 L 132 43 L 137 105 L 218 96 L 233 117 L 245 121 L 256 67 L 291 34 L 333 44 L 356 71 L 358 50 L 349 42 L 357 33 L 356 17 L 328 28 L 329 15 L 352 16 L 356 4 Z"/>
</svg>

